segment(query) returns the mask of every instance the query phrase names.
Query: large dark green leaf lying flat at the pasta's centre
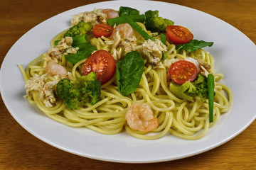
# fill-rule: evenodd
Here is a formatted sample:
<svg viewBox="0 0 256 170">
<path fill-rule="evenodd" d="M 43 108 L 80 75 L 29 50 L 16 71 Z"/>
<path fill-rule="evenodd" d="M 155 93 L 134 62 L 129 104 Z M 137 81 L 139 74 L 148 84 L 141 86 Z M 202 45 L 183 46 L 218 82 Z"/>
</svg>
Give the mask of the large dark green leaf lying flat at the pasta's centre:
<svg viewBox="0 0 256 170">
<path fill-rule="evenodd" d="M 128 52 L 123 60 L 117 62 L 116 79 L 119 93 L 132 94 L 137 89 L 144 72 L 144 61 L 139 52 Z"/>
</svg>

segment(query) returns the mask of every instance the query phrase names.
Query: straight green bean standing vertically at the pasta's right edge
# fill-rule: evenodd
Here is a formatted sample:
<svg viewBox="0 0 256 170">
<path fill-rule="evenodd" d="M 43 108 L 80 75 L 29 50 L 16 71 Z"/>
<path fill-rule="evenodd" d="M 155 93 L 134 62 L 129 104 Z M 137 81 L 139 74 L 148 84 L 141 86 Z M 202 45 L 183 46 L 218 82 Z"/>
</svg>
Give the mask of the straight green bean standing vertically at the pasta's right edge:
<svg viewBox="0 0 256 170">
<path fill-rule="evenodd" d="M 208 101 L 209 101 L 209 121 L 213 123 L 213 97 L 214 97 L 214 77 L 208 74 Z"/>
</svg>

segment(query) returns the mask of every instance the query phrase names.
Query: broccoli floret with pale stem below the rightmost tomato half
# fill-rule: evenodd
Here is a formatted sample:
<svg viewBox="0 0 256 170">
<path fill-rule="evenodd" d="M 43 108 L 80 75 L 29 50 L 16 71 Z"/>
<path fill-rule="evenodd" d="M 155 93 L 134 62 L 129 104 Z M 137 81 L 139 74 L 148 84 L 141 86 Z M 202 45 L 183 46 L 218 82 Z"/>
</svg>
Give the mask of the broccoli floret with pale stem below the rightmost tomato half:
<svg viewBox="0 0 256 170">
<path fill-rule="evenodd" d="M 169 90 L 178 98 L 183 98 L 188 101 L 193 101 L 193 96 L 199 96 L 200 98 L 208 98 L 208 83 L 207 78 L 198 74 L 195 81 L 179 85 L 171 82 Z"/>
</svg>

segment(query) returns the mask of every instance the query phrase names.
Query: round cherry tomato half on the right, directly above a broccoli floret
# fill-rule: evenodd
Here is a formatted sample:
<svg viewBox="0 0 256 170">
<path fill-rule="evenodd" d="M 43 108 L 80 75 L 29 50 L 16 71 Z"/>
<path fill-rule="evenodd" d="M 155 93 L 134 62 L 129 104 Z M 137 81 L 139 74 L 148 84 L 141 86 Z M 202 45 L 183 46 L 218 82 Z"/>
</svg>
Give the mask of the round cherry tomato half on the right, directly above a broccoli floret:
<svg viewBox="0 0 256 170">
<path fill-rule="evenodd" d="M 198 74 L 196 65 L 186 60 L 180 60 L 171 64 L 169 77 L 176 84 L 183 84 L 186 81 L 194 81 Z"/>
</svg>

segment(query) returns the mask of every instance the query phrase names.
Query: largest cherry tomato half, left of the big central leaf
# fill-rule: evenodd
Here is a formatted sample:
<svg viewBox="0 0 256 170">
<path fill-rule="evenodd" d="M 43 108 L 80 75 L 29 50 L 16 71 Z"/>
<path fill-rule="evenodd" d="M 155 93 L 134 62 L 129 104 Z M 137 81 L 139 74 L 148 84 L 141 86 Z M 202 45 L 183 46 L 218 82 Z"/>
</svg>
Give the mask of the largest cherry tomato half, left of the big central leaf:
<svg viewBox="0 0 256 170">
<path fill-rule="evenodd" d="M 116 69 L 114 57 L 106 50 L 97 50 L 82 65 L 82 74 L 95 72 L 101 84 L 105 84 L 113 76 Z"/>
</svg>

